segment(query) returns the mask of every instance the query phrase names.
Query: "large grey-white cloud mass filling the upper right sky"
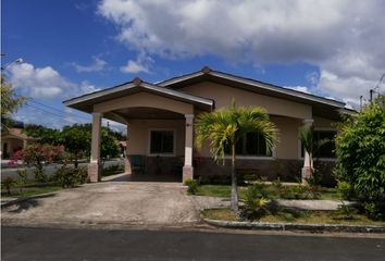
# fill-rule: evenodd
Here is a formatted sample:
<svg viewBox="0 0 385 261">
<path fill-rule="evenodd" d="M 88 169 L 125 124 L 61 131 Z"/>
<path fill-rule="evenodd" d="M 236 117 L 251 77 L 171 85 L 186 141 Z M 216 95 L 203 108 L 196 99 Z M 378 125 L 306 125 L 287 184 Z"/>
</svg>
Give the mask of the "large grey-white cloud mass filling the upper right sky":
<svg viewBox="0 0 385 261">
<path fill-rule="evenodd" d="M 383 0 L 103 0 L 98 12 L 131 50 L 250 64 L 301 61 L 323 72 L 308 79 L 321 92 L 357 99 L 385 69 L 384 8 Z"/>
</svg>

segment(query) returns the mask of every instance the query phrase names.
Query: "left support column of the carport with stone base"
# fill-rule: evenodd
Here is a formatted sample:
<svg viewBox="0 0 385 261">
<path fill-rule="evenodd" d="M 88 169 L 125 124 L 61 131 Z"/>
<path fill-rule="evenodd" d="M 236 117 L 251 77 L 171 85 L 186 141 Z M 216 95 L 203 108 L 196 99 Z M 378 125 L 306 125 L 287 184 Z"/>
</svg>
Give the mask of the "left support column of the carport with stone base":
<svg viewBox="0 0 385 261">
<path fill-rule="evenodd" d="M 92 137 L 91 137 L 91 157 L 88 164 L 88 177 L 91 183 L 101 179 L 101 161 L 100 161 L 100 139 L 101 139 L 101 117 L 98 112 L 92 113 Z"/>
</svg>

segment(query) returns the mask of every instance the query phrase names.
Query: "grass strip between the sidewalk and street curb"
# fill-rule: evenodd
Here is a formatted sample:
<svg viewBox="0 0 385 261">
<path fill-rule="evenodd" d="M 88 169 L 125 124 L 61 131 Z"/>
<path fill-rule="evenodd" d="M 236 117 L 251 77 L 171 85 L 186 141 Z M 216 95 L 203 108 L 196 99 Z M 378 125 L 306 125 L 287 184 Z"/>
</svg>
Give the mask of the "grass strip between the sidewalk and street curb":
<svg viewBox="0 0 385 261">
<path fill-rule="evenodd" d="M 203 210 L 201 214 L 203 217 L 211 220 L 238 221 L 231 209 L 209 209 Z M 353 214 L 351 219 L 346 219 L 339 211 L 297 211 L 293 209 L 280 210 L 275 214 L 268 214 L 261 217 L 259 222 L 385 226 L 384 221 L 373 221 L 363 214 Z"/>
</svg>

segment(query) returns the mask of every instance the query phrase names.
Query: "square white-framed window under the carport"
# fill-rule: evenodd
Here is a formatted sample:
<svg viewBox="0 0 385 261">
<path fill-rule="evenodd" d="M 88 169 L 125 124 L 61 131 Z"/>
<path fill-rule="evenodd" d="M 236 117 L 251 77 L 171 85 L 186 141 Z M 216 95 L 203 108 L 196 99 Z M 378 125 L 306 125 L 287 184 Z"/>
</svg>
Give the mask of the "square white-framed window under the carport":
<svg viewBox="0 0 385 261">
<path fill-rule="evenodd" d="M 174 154 L 174 130 L 150 130 L 150 154 Z"/>
</svg>

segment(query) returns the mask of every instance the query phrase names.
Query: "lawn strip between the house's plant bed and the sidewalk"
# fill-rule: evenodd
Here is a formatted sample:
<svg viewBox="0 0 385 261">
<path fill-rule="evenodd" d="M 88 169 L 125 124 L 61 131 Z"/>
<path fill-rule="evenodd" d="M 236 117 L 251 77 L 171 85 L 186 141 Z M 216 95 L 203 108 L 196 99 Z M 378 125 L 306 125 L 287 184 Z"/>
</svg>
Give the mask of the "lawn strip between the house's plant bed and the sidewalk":
<svg viewBox="0 0 385 261">
<path fill-rule="evenodd" d="M 266 197 L 271 199 L 278 199 L 280 192 L 278 189 L 274 185 L 263 185 L 264 190 L 266 191 Z M 287 189 L 300 188 L 299 186 L 286 186 Z M 245 192 L 247 187 L 238 186 L 239 198 L 245 199 Z M 229 185 L 201 185 L 198 187 L 198 191 L 196 192 L 198 196 L 209 196 L 209 197 L 222 197 L 229 198 L 231 197 L 231 186 Z M 295 199 L 295 195 L 288 195 L 286 198 Z M 339 196 L 335 188 L 324 188 L 320 189 L 320 198 L 319 199 L 334 199 L 339 200 Z"/>
</svg>

